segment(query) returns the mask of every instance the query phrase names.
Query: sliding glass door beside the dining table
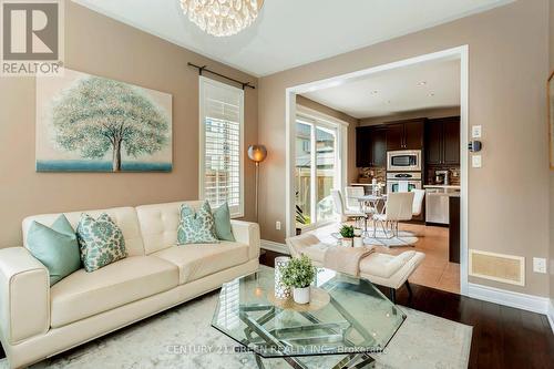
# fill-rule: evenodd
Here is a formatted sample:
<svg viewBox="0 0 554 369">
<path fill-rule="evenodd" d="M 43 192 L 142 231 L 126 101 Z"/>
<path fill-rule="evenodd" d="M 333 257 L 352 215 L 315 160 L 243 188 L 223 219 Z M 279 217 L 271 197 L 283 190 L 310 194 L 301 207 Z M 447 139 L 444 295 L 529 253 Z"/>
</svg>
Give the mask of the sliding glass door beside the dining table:
<svg viewBox="0 0 554 369">
<path fill-rule="evenodd" d="M 314 226 L 334 217 L 331 189 L 340 187 L 338 129 L 298 116 L 295 145 L 296 227 Z"/>
</svg>

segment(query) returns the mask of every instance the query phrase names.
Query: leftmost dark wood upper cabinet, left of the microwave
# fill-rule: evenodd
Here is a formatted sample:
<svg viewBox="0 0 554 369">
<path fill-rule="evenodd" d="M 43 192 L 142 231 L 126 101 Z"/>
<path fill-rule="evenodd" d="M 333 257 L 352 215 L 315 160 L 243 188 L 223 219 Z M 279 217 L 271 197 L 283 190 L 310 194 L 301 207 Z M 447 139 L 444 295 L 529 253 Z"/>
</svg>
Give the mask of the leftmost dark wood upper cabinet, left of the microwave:
<svg viewBox="0 0 554 369">
<path fill-rule="evenodd" d="M 356 166 L 387 165 L 387 130 L 383 126 L 356 129 Z"/>
</svg>

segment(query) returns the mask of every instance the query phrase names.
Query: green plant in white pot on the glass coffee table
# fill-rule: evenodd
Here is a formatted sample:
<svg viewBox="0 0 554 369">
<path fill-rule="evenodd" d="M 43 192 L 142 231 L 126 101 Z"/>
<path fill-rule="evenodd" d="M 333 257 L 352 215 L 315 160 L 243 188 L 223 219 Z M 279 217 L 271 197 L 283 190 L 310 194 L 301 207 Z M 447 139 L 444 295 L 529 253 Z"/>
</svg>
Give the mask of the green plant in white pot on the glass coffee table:
<svg viewBox="0 0 554 369">
<path fill-rule="evenodd" d="M 293 288 L 296 304 L 310 301 L 310 284 L 316 277 L 317 268 L 306 255 L 294 258 L 281 270 L 281 281 Z"/>
</svg>

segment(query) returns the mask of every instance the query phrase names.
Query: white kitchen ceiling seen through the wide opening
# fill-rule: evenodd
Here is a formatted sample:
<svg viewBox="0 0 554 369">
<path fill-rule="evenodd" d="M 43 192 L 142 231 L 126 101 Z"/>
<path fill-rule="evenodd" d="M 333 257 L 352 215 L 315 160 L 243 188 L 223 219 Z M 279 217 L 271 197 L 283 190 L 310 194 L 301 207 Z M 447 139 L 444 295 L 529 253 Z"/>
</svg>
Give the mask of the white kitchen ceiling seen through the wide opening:
<svg viewBox="0 0 554 369">
<path fill-rule="evenodd" d="M 444 59 L 372 74 L 306 98 L 353 117 L 460 105 L 460 60 Z"/>
</svg>

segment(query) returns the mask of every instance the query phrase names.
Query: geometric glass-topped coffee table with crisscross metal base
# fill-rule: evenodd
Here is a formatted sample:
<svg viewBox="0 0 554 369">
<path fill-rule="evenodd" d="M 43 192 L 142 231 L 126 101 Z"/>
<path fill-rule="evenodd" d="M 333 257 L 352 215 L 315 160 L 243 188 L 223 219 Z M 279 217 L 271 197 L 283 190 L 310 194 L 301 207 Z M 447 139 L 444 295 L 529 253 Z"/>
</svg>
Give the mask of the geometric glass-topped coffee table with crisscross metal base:
<svg viewBox="0 0 554 369">
<path fill-rule="evenodd" d="M 373 368 L 406 315 L 369 280 L 319 269 L 308 305 L 274 297 L 274 269 L 260 267 L 224 284 L 212 326 L 263 359 L 280 358 L 293 368 L 326 358 L 329 368 Z M 329 361 L 328 359 L 336 360 Z M 330 365 L 329 365 L 330 362 Z M 321 365 L 317 365 L 321 367 Z"/>
</svg>

